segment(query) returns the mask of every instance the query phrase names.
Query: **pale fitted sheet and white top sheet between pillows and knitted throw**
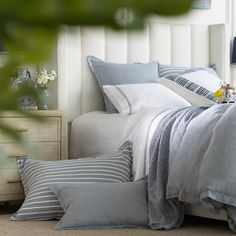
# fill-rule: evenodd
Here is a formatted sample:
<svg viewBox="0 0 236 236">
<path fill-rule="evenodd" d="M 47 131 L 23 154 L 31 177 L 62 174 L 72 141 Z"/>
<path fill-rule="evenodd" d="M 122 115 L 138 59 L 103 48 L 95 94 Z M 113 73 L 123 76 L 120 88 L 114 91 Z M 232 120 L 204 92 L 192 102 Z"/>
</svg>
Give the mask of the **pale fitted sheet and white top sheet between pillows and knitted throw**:
<svg viewBox="0 0 236 236">
<path fill-rule="evenodd" d="M 96 156 L 117 151 L 127 140 L 133 142 L 134 180 L 148 174 L 149 146 L 155 127 L 173 109 L 143 109 L 134 115 L 120 116 L 95 111 L 73 120 L 70 158 Z"/>
</svg>

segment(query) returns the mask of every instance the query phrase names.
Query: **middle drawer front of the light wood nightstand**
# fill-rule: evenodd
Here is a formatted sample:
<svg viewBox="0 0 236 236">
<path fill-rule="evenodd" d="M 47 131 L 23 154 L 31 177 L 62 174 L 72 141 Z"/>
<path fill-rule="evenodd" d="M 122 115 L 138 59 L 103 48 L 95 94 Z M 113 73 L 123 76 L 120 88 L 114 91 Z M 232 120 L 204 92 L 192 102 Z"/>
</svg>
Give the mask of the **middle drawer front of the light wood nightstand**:
<svg viewBox="0 0 236 236">
<path fill-rule="evenodd" d="M 60 157 L 60 142 L 28 143 L 22 148 L 15 143 L 0 143 L 0 170 L 2 168 L 16 168 L 16 159 L 27 156 L 35 160 L 58 160 Z"/>
</svg>

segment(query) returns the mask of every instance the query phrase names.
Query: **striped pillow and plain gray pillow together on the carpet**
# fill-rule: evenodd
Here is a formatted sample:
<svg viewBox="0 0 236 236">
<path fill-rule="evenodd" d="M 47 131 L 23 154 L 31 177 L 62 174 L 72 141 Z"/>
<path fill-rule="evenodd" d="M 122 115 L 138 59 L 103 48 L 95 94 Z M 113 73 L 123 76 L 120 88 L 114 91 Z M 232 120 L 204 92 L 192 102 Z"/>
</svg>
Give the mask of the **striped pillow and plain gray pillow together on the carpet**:
<svg viewBox="0 0 236 236">
<path fill-rule="evenodd" d="M 146 180 L 130 182 L 132 147 L 96 158 L 19 158 L 26 198 L 11 219 L 61 219 L 57 229 L 148 227 Z"/>
</svg>

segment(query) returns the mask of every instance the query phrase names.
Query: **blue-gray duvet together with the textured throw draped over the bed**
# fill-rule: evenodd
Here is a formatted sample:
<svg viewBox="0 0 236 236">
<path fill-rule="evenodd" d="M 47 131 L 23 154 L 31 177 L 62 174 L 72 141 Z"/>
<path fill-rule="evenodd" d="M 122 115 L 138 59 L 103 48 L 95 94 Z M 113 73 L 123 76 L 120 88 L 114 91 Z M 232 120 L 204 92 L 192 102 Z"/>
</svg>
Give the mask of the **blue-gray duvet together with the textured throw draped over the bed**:
<svg viewBox="0 0 236 236">
<path fill-rule="evenodd" d="M 151 144 L 149 221 L 179 226 L 183 203 L 227 211 L 236 232 L 236 105 L 190 107 L 167 115 Z"/>
</svg>

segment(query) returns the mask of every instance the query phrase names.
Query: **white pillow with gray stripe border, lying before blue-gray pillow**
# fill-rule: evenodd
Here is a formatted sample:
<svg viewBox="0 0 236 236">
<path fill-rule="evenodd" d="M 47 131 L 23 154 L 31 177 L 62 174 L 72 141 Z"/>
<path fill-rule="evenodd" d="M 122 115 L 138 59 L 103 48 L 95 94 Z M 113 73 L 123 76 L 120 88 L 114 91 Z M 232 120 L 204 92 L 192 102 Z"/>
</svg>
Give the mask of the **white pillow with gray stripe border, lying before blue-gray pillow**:
<svg viewBox="0 0 236 236">
<path fill-rule="evenodd" d="M 105 94 L 123 116 L 145 107 L 179 108 L 191 104 L 165 86 L 157 83 L 104 85 Z"/>
</svg>

